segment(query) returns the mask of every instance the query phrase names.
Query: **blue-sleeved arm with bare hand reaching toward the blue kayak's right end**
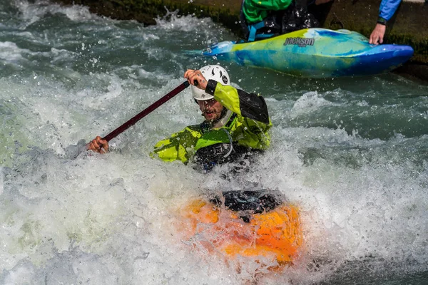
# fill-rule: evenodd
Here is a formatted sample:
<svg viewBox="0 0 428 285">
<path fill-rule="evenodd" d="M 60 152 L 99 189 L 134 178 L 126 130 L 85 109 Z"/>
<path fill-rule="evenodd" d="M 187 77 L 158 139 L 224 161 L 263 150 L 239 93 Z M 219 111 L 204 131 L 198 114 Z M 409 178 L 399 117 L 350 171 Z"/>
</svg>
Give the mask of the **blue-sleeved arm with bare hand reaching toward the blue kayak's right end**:
<svg viewBox="0 0 428 285">
<path fill-rule="evenodd" d="M 402 0 L 382 0 L 379 6 L 379 18 L 377 24 L 374 26 L 370 34 L 369 43 L 379 44 L 383 43 L 385 31 L 387 30 L 387 21 L 394 16 L 395 11 Z"/>
</svg>

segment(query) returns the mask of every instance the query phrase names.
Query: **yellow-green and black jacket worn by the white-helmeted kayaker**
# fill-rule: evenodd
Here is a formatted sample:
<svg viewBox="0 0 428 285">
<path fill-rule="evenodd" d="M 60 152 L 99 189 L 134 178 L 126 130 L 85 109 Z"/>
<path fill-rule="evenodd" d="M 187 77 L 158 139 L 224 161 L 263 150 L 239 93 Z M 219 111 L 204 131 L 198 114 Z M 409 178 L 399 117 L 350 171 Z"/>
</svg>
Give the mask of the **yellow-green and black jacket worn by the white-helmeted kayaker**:
<svg viewBox="0 0 428 285">
<path fill-rule="evenodd" d="M 161 160 L 187 163 L 198 150 L 213 145 L 235 145 L 248 150 L 265 150 L 270 145 L 267 130 L 272 123 L 262 96 L 246 93 L 217 81 L 208 81 L 205 92 L 227 110 L 218 122 L 190 125 L 155 145 L 153 155 Z"/>
</svg>

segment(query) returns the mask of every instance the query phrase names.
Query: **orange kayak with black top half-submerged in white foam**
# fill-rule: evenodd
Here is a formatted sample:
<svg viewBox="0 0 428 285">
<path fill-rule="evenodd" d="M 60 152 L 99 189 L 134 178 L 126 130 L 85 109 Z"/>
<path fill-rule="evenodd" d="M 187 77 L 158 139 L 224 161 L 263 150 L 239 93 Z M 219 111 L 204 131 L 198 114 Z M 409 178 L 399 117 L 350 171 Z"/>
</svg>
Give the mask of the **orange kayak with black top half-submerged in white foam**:
<svg viewBox="0 0 428 285">
<path fill-rule="evenodd" d="M 195 199 L 180 215 L 189 241 L 228 258 L 268 260 L 277 269 L 292 264 L 302 245 L 299 209 L 266 191 Z"/>
</svg>

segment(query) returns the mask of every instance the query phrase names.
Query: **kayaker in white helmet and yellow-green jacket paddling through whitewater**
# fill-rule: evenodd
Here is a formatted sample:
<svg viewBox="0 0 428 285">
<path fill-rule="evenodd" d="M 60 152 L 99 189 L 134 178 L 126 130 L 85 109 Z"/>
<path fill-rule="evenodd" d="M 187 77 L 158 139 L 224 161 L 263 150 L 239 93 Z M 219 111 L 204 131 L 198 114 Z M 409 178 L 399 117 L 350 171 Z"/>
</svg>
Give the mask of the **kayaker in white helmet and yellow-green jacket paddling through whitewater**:
<svg viewBox="0 0 428 285">
<path fill-rule="evenodd" d="M 155 145 L 152 157 L 163 161 L 190 161 L 209 171 L 214 165 L 245 159 L 270 145 L 270 122 L 262 96 L 230 86 L 225 68 L 188 69 L 184 77 L 205 120 L 190 125 Z M 88 144 L 95 152 L 108 152 L 108 142 L 96 137 Z"/>
</svg>

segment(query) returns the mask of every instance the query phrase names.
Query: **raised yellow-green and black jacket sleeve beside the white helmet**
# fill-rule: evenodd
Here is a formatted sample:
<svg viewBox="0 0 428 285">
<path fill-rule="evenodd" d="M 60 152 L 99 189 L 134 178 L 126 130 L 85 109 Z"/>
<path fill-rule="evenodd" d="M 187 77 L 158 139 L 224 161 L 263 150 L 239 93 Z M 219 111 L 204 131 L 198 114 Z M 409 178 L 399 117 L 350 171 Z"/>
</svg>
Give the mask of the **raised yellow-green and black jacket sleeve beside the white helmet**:
<svg viewBox="0 0 428 285">
<path fill-rule="evenodd" d="M 232 86 L 224 86 L 212 79 L 208 81 L 205 92 L 213 95 L 215 100 L 233 113 L 266 125 L 270 124 L 265 99 L 260 95 L 247 93 Z"/>
</svg>

